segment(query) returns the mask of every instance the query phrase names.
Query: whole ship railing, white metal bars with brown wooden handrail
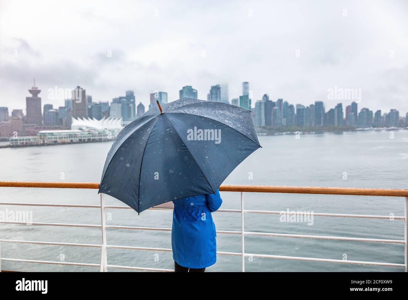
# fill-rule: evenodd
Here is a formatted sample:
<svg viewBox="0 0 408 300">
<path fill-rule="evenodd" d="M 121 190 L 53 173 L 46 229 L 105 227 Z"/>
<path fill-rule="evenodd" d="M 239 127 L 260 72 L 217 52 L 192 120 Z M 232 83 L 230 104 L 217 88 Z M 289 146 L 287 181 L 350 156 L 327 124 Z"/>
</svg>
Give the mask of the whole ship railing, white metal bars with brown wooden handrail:
<svg viewBox="0 0 408 300">
<path fill-rule="evenodd" d="M 62 189 L 99 189 L 99 184 L 96 182 L 16 182 L 16 181 L 0 181 L 0 187 L 19 187 L 19 188 L 62 188 Z M 366 188 L 345 188 L 345 187 L 291 187 L 291 186 L 266 186 L 266 185 L 221 185 L 220 191 L 226 192 L 239 192 L 241 200 L 241 209 L 219 209 L 217 212 L 224 213 L 239 213 L 241 215 L 241 230 L 240 231 L 226 231 L 217 230 L 217 233 L 221 234 L 235 234 L 241 235 L 241 251 L 240 252 L 224 252 L 217 251 L 217 255 L 230 255 L 241 256 L 242 258 L 242 272 L 245 271 L 245 257 L 252 258 L 275 258 L 286 260 L 306 260 L 315 262 L 334 262 L 341 264 L 360 264 L 360 265 L 372 265 L 372 266 L 387 266 L 404 268 L 407 271 L 407 215 L 408 215 L 408 189 L 366 189 Z M 356 214 L 341 214 L 341 213 L 313 213 L 313 216 L 326 216 L 337 218 L 371 218 L 371 219 L 390 219 L 403 220 L 404 221 L 404 240 L 391 240 L 391 239 L 375 239 L 375 238 L 356 238 L 356 237 L 339 237 L 339 236 L 315 236 L 304 234 L 287 234 L 287 233 L 268 233 L 268 232 L 251 232 L 244 230 L 244 214 L 245 213 L 257 213 L 257 214 L 290 214 L 296 215 L 303 212 L 285 212 L 285 211 L 263 211 L 263 210 L 245 210 L 244 209 L 244 193 L 296 193 L 296 194 L 324 194 L 324 195 L 355 195 L 355 196 L 385 196 L 385 197 L 404 197 L 404 216 L 377 216 L 377 215 L 356 215 Z M 1 205 L 8 206 L 27 206 L 27 207 L 78 207 L 78 208 L 95 208 L 100 209 L 101 224 L 64 224 L 64 223 L 46 223 L 46 222 L 33 222 L 30 223 L 34 226 L 67 226 L 67 227 L 92 227 L 100 228 L 102 233 L 101 244 L 81 244 L 70 242 L 45 242 L 45 241 L 30 241 L 30 240 L 6 240 L 0 239 L 0 271 L 1 262 L 31 262 L 40 264 L 58 264 L 69 266 L 88 266 L 98 267 L 101 272 L 106 272 L 108 268 L 117 269 L 130 269 L 130 270 L 142 270 L 142 271 L 164 271 L 172 272 L 172 269 L 157 269 L 157 268 L 145 268 L 145 267 L 132 267 L 108 264 L 107 261 L 107 249 L 130 249 L 130 250 L 144 250 L 144 251 L 169 251 L 172 249 L 166 248 L 153 248 L 153 247 L 130 247 L 130 246 L 118 246 L 110 245 L 106 240 L 106 229 L 127 229 L 127 230 L 154 230 L 154 231 L 171 231 L 171 228 L 158 228 L 158 227 L 133 227 L 133 226 L 117 226 L 106 225 L 106 213 L 105 209 L 131 209 L 128 206 L 120 205 L 105 205 L 105 199 L 103 194 L 100 194 L 100 205 L 88 205 L 88 204 L 54 204 L 54 203 L 22 203 L 22 202 L 0 202 Z M 152 210 L 168 210 L 167 208 L 151 208 Z M 14 222 L 14 221 L 2 221 L 3 224 L 27 224 L 26 222 Z M 296 257 L 296 256 L 280 256 L 280 255 L 267 255 L 267 254 L 254 254 L 245 253 L 244 239 L 245 236 L 275 236 L 275 237 L 290 237 L 290 238 L 314 238 L 323 240 L 348 240 L 359 242 L 381 242 L 392 244 L 404 244 L 404 264 L 389 263 L 389 262 L 369 262 L 369 261 L 357 261 L 357 260 L 338 260 L 328 258 L 310 258 L 310 257 Z M 96 247 L 101 249 L 100 263 L 79 263 L 79 262 L 58 262 L 58 261 L 45 261 L 45 260 L 27 260 L 27 259 L 14 259 L 1 257 L 1 244 L 2 243 L 21 243 L 21 244 L 41 244 L 41 245 L 59 245 L 59 246 L 73 246 L 73 247 Z"/>
</svg>

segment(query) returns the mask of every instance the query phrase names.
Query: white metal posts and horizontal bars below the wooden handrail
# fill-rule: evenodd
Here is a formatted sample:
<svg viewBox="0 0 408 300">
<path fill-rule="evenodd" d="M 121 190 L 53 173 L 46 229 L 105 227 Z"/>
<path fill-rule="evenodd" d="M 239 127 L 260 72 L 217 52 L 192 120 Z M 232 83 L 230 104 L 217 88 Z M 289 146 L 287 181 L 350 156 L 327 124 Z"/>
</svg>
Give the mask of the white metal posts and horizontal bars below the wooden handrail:
<svg viewBox="0 0 408 300">
<path fill-rule="evenodd" d="M 241 209 L 219 209 L 217 212 L 231 212 L 241 214 L 241 231 L 221 231 L 217 230 L 217 233 L 226 234 L 241 234 L 241 253 L 235 252 L 222 252 L 217 251 L 218 255 L 232 255 L 242 257 L 242 272 L 245 271 L 245 257 L 259 257 L 259 258 L 278 258 L 278 259 L 290 259 L 290 260 L 308 260 L 308 261 L 320 261 L 320 262 L 337 262 L 346 264 L 365 264 L 365 265 L 376 265 L 376 266 L 389 266 L 389 267 L 404 267 L 404 271 L 407 272 L 407 260 L 408 260 L 408 247 L 407 247 L 407 232 L 408 232 L 408 197 L 405 197 L 404 201 L 404 217 L 397 216 L 393 217 L 394 220 L 404 220 L 404 240 L 384 240 L 384 239 L 368 239 L 368 238 L 349 238 L 349 237 L 332 237 L 332 236 L 308 236 L 300 234 L 283 234 L 283 233 L 263 233 L 263 232 L 248 232 L 244 231 L 244 213 L 268 213 L 268 214 L 286 214 L 287 212 L 277 212 L 277 211 L 252 211 L 244 210 L 244 192 L 241 193 Z M 33 262 L 42 264 L 60 264 L 60 265 L 75 265 L 75 266 L 88 266 L 88 267 L 99 267 L 101 272 L 108 271 L 108 267 L 119 268 L 119 269 L 131 269 L 131 270 L 143 270 L 143 271 L 164 271 L 171 272 L 171 269 L 157 269 L 157 268 L 144 268 L 144 267 L 130 267 L 130 266 L 118 266 L 110 265 L 107 262 L 107 249 L 133 249 L 133 250 L 147 250 L 147 251 L 172 251 L 171 249 L 161 249 L 161 248 L 147 248 L 147 247 L 129 247 L 129 246 L 114 246 L 108 245 L 106 242 L 106 229 L 135 229 L 135 230 L 158 230 L 158 231 L 171 231 L 170 228 L 156 228 L 156 227 L 131 227 L 131 226 L 114 226 L 106 225 L 106 215 L 105 209 L 131 209 L 125 206 L 107 206 L 105 205 L 102 193 L 100 194 L 100 206 L 99 205 L 82 205 L 82 204 L 34 204 L 34 203 L 13 203 L 13 202 L 0 202 L 0 205 L 24 205 L 24 206 L 43 206 L 43 207 L 78 207 L 78 208 L 100 208 L 101 210 L 101 225 L 93 224 L 62 224 L 62 223 L 40 223 L 33 222 L 33 225 L 49 225 L 49 226 L 69 226 L 69 227 L 93 227 L 101 228 L 102 232 L 102 244 L 79 244 L 79 243 L 66 243 L 66 242 L 40 242 L 40 241 L 24 241 L 24 240 L 3 240 L 0 239 L 0 271 L 2 270 L 2 260 L 12 261 L 12 262 Z M 169 210 L 161 208 L 151 208 L 152 210 Z M 289 212 L 289 214 L 298 214 L 296 212 Z M 378 219 L 390 219 L 389 216 L 374 216 L 374 215 L 350 215 L 350 214 L 332 214 L 332 213 L 313 213 L 314 216 L 330 216 L 330 217 L 345 217 L 345 218 L 378 218 Z M 3 224 L 26 224 L 25 222 L 9 222 L 1 221 Z M 306 258 L 306 257 L 294 257 L 294 256 L 277 256 L 277 255 L 266 255 L 266 254 L 250 254 L 245 253 L 244 248 L 244 236 L 245 235 L 260 235 L 260 236 L 279 236 L 279 237 L 292 237 L 292 238 L 317 238 L 317 239 L 328 239 L 328 240 L 355 240 L 364 242 L 388 242 L 388 243 L 399 243 L 404 244 L 404 264 L 386 263 L 386 262 L 365 262 L 365 261 L 351 261 L 351 260 L 333 260 L 326 258 Z M 15 242 L 15 243 L 26 243 L 26 244 L 46 244 L 46 245 L 62 245 L 62 246 L 77 246 L 77 247 L 100 247 L 101 248 L 101 258 L 100 264 L 86 264 L 77 262 L 52 262 L 43 260 L 22 260 L 13 258 L 2 258 L 1 257 L 1 243 L 2 242 Z"/>
</svg>

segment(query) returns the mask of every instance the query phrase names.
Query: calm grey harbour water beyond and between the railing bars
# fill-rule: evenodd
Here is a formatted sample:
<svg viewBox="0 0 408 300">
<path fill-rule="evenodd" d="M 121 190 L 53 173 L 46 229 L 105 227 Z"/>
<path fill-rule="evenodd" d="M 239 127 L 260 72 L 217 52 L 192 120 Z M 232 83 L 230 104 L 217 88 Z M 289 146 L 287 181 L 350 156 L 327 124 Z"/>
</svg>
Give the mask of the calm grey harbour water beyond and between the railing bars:
<svg viewBox="0 0 408 300">
<path fill-rule="evenodd" d="M 270 184 L 331 187 L 408 188 L 408 131 L 345 132 L 343 134 L 260 136 L 262 149 L 249 156 L 225 184 Z M 0 149 L 0 180 L 99 182 L 110 142 Z M 252 172 L 253 179 L 248 179 Z M 347 173 L 347 179 L 344 178 Z M 223 209 L 239 209 L 239 193 L 222 192 Z M 96 190 L 0 188 L 1 202 L 100 204 Z M 106 196 L 106 204 L 123 203 Z M 315 213 L 404 216 L 397 197 L 244 193 L 245 209 Z M 9 210 L 22 207 L 9 206 Z M 0 209 L 6 209 L 1 206 Z M 30 208 L 31 209 L 31 208 Z M 34 222 L 100 224 L 99 209 L 33 208 Z M 109 225 L 171 228 L 172 211 L 111 209 Z M 279 215 L 246 214 L 245 230 L 323 236 L 404 239 L 403 220 L 314 216 L 305 222 L 280 222 Z M 240 230 L 239 213 L 214 213 L 217 230 Z M 0 224 L 0 238 L 54 242 L 101 243 L 100 229 Z M 171 248 L 171 232 L 108 229 L 112 245 Z M 241 251 L 241 236 L 218 234 L 217 250 Z M 97 248 L 2 243 L 3 258 L 99 263 Z M 404 263 L 404 245 L 378 242 L 246 236 L 246 253 Z M 158 256 L 157 256 L 158 254 Z M 171 252 L 108 249 L 108 263 L 134 267 L 173 268 Z M 98 271 L 94 267 L 2 262 L 3 269 L 23 271 Z M 240 271 L 238 256 L 217 256 L 208 271 Z M 246 259 L 246 271 L 403 271 L 403 268 L 305 262 L 268 258 Z M 119 271 L 110 269 L 109 271 Z"/>
</svg>

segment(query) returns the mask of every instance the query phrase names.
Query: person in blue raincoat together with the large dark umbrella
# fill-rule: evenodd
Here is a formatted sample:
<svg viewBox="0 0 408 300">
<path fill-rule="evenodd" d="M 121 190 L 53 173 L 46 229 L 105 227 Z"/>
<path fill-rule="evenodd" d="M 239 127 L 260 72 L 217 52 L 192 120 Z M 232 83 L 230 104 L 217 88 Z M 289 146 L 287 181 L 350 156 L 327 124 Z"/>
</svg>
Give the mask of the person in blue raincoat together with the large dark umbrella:
<svg viewBox="0 0 408 300">
<path fill-rule="evenodd" d="M 261 146 L 246 109 L 191 98 L 157 106 L 120 131 L 99 193 L 137 213 L 173 201 L 175 271 L 204 271 L 217 258 L 211 212 L 222 204 L 218 188 Z"/>
</svg>

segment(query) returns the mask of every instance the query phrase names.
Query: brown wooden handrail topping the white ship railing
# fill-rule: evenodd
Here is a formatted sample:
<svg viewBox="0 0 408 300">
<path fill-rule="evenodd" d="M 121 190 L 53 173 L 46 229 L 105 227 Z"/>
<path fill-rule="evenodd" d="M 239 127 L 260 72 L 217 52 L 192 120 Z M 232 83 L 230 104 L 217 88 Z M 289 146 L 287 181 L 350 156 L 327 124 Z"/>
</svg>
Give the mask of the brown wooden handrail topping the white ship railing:
<svg viewBox="0 0 408 300">
<path fill-rule="evenodd" d="M 99 189 L 99 183 L 98 182 L 0 181 L 0 187 Z M 408 197 L 408 189 L 364 189 L 364 188 L 357 188 L 357 187 L 291 187 L 291 186 L 279 186 L 279 185 L 223 184 L 220 186 L 220 191 Z"/>
</svg>

